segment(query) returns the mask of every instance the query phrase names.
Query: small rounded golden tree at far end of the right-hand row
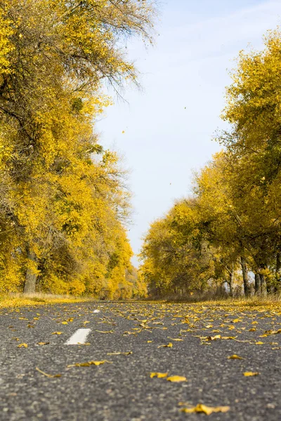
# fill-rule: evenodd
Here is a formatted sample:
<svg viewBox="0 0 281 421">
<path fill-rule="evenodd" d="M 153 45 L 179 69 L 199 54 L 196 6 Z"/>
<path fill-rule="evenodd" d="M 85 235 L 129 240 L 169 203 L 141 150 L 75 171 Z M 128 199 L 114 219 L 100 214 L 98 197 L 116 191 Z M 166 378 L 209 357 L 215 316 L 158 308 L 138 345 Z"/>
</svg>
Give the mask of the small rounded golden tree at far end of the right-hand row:
<svg viewBox="0 0 281 421">
<path fill-rule="evenodd" d="M 164 218 L 152 223 L 141 250 L 141 277 L 151 295 L 185 297 L 214 280 L 214 258 L 197 228 L 194 199 L 178 201 Z"/>
</svg>

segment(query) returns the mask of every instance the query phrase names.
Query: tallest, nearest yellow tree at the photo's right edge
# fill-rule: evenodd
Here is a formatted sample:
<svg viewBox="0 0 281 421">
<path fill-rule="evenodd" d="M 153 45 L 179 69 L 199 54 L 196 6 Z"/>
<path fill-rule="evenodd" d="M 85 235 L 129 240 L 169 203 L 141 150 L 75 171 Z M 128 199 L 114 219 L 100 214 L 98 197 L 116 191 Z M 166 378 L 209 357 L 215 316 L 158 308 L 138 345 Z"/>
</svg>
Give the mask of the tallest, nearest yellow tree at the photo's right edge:
<svg viewBox="0 0 281 421">
<path fill-rule="evenodd" d="M 236 201 L 251 232 L 263 295 L 266 282 L 280 284 L 280 53 L 279 31 L 268 32 L 263 51 L 240 53 L 223 114 L 233 130 L 220 137 L 239 174 Z"/>
</svg>

